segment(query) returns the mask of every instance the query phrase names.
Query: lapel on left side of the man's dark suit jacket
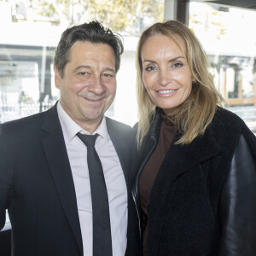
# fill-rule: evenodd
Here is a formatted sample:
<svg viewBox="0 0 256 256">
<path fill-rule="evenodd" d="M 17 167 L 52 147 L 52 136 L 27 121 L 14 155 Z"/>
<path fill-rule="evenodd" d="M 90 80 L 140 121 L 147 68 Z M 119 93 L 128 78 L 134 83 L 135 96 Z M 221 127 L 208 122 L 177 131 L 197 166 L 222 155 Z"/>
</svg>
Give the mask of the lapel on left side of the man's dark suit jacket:
<svg viewBox="0 0 256 256">
<path fill-rule="evenodd" d="M 56 105 L 45 113 L 42 129 L 49 133 L 47 137 L 42 139 L 42 145 L 55 182 L 55 188 L 60 197 L 63 211 L 67 216 L 67 221 L 73 230 L 80 253 L 83 255 L 83 242 L 73 176 Z"/>
</svg>

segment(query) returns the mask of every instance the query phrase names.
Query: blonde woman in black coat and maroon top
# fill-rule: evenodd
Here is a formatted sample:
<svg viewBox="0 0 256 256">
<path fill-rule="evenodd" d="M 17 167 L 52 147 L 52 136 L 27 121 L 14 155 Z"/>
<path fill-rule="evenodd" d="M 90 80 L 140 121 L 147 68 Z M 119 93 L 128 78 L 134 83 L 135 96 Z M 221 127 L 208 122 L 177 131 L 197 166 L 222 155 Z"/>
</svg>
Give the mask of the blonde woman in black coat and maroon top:
<svg viewBox="0 0 256 256">
<path fill-rule="evenodd" d="M 207 56 L 187 26 L 169 20 L 143 32 L 137 100 L 134 255 L 255 256 L 256 138 L 219 107 Z"/>
</svg>

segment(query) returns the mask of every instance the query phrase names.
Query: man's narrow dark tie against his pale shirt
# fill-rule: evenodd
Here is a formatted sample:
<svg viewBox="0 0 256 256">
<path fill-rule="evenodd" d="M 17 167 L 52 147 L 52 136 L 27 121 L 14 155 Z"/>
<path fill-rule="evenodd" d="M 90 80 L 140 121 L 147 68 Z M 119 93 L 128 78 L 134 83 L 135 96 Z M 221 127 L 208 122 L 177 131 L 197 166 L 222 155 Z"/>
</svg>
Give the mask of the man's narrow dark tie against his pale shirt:
<svg viewBox="0 0 256 256">
<path fill-rule="evenodd" d="M 87 147 L 93 219 L 93 256 L 112 256 L 108 191 L 103 175 L 102 162 L 94 147 L 98 134 L 84 135 L 78 133 L 77 135 Z"/>
</svg>

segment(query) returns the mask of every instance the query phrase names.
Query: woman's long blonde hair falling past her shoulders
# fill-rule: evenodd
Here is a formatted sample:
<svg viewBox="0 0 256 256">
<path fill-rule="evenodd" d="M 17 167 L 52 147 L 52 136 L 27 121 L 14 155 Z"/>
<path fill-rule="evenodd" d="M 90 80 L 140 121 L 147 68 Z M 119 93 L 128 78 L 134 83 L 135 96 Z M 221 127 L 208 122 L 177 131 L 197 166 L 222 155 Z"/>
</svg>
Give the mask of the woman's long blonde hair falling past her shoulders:
<svg viewBox="0 0 256 256">
<path fill-rule="evenodd" d="M 182 134 L 177 144 L 189 144 L 195 137 L 206 131 L 207 126 L 212 122 L 218 105 L 221 105 L 224 100 L 214 86 L 212 74 L 208 71 L 207 55 L 199 40 L 187 26 L 177 20 L 167 20 L 148 27 L 141 35 L 137 45 L 137 104 L 139 115 L 137 143 L 140 145 L 143 142 L 143 137 L 148 134 L 157 107 L 151 101 L 143 84 L 142 63 L 143 44 L 148 38 L 157 34 L 171 38 L 183 51 L 192 78 L 195 80 L 189 97 L 178 106 L 178 114 L 175 117 L 177 129 Z M 186 49 L 183 49 L 180 39 Z"/>
</svg>

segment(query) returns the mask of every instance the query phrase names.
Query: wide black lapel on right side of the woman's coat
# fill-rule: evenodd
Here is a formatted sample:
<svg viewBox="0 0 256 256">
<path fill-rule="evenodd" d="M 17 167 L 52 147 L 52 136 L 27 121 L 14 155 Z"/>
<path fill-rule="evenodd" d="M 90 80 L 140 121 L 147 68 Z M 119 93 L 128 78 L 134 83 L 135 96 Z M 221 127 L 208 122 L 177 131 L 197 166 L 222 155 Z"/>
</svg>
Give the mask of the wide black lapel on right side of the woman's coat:
<svg viewBox="0 0 256 256">
<path fill-rule="evenodd" d="M 208 129 L 204 136 L 197 137 L 189 145 L 175 145 L 179 136 L 177 134 L 174 138 L 149 195 L 148 211 L 154 212 L 155 218 L 148 220 L 151 226 L 148 228 L 154 230 L 155 245 L 160 242 L 161 227 L 172 201 L 177 177 L 184 172 L 189 172 L 193 167 L 217 155 L 220 151 L 211 129 Z"/>
</svg>

